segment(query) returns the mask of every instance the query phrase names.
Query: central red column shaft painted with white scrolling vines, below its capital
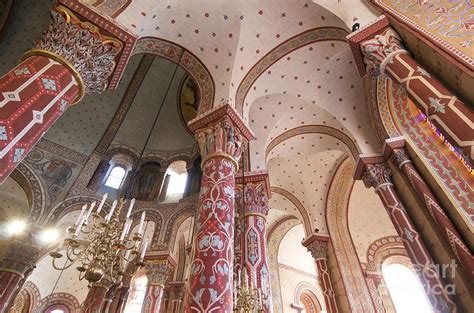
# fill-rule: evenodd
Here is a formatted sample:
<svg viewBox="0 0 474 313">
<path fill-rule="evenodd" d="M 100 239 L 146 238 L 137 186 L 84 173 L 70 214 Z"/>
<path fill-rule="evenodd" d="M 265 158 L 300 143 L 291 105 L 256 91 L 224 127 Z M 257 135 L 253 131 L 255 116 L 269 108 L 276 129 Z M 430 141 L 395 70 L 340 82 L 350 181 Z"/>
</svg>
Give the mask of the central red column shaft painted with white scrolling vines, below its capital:
<svg viewBox="0 0 474 313">
<path fill-rule="evenodd" d="M 235 170 L 225 157 L 204 163 L 186 312 L 232 311 Z"/>
</svg>

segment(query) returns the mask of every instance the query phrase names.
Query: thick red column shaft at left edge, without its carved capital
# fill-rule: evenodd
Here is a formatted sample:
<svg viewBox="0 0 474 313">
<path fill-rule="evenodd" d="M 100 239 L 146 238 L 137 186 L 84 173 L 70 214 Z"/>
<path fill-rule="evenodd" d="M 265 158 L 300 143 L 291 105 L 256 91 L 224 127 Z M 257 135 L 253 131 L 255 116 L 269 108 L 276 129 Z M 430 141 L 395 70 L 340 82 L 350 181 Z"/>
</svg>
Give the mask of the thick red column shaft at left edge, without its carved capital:
<svg viewBox="0 0 474 313">
<path fill-rule="evenodd" d="M 71 71 L 44 56 L 30 57 L 0 78 L 0 183 L 78 94 Z"/>
</svg>

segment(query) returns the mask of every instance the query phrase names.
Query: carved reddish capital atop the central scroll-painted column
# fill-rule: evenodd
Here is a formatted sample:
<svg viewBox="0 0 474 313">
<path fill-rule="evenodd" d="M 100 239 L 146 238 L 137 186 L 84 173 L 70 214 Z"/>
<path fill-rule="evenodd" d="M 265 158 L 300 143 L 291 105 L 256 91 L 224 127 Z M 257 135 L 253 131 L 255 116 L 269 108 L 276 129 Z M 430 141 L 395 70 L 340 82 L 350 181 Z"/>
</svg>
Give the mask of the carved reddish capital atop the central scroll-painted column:
<svg viewBox="0 0 474 313">
<path fill-rule="evenodd" d="M 226 154 L 238 162 L 247 146 L 247 140 L 228 116 L 199 129 L 196 138 L 203 160 L 213 154 Z"/>
</svg>

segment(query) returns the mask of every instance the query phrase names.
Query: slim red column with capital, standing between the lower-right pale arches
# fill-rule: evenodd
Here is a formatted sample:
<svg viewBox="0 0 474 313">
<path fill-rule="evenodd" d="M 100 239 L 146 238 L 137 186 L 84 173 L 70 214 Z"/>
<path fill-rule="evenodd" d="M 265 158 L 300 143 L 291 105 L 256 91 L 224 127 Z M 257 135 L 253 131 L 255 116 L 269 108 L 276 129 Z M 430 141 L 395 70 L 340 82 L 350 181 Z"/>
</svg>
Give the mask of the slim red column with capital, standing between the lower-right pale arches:
<svg viewBox="0 0 474 313">
<path fill-rule="evenodd" d="M 328 271 L 327 250 L 329 245 L 329 236 L 312 233 L 301 243 L 313 256 L 318 268 L 318 279 L 321 289 L 324 293 L 324 301 L 329 313 L 338 312 L 336 297 L 332 288 L 331 277 Z"/>
</svg>

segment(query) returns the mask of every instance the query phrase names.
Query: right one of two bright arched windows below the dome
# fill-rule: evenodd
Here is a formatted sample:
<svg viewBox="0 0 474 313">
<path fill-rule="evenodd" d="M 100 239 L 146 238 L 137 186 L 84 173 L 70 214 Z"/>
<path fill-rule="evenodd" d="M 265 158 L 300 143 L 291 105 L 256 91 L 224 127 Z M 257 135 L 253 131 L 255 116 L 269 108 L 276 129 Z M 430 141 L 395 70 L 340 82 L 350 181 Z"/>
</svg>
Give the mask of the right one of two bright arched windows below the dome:
<svg viewBox="0 0 474 313">
<path fill-rule="evenodd" d="M 186 182 L 188 180 L 188 172 L 186 170 L 186 162 L 176 161 L 170 164 L 166 170 L 163 189 L 166 191 L 164 202 L 177 202 L 184 194 Z M 163 192 L 163 191 L 162 191 Z"/>
</svg>

